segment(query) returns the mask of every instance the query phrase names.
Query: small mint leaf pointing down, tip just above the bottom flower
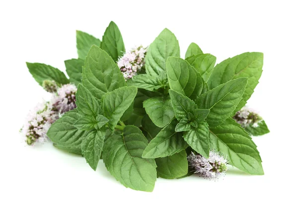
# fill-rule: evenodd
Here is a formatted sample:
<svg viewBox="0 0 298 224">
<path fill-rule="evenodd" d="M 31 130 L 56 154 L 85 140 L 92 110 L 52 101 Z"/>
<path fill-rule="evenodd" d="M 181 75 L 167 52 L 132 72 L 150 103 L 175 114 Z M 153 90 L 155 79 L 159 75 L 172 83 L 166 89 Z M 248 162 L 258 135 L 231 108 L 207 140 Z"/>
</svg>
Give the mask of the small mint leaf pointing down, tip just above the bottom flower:
<svg viewBox="0 0 298 224">
<path fill-rule="evenodd" d="M 189 131 L 185 131 L 183 137 L 196 152 L 206 158 L 209 157 L 209 128 L 206 121 L 198 123 L 198 127 L 191 127 Z"/>
</svg>

